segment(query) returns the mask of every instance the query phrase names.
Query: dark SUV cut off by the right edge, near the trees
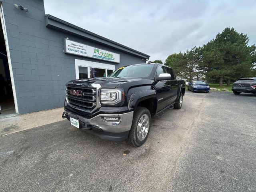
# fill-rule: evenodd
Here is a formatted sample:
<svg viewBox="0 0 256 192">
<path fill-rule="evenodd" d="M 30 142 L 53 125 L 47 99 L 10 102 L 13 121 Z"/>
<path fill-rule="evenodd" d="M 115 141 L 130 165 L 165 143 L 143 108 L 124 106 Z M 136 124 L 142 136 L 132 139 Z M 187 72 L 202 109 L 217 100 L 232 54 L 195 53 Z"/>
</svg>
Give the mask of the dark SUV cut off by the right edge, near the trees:
<svg viewBox="0 0 256 192">
<path fill-rule="evenodd" d="M 235 95 L 252 93 L 256 96 L 256 77 L 238 79 L 233 83 L 232 91 Z"/>
</svg>

